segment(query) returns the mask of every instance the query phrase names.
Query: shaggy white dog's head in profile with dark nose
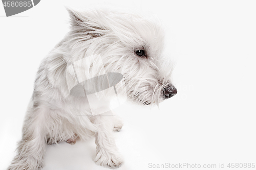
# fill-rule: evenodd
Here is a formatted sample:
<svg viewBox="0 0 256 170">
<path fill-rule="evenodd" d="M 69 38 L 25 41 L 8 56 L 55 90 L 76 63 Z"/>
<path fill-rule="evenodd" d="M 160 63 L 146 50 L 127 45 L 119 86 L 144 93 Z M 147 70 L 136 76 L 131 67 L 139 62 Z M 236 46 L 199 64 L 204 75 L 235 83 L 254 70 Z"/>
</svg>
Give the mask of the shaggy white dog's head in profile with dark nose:
<svg viewBox="0 0 256 170">
<path fill-rule="evenodd" d="M 62 42 L 72 56 L 69 63 L 100 54 L 106 72 L 123 75 L 129 99 L 144 105 L 177 93 L 170 82 L 172 67 L 166 67 L 168 61 L 163 59 L 164 34 L 158 21 L 104 10 L 69 13 L 71 32 Z M 97 67 L 96 62 L 91 67 Z M 101 69 L 97 70 L 90 74 L 97 76 Z"/>
</svg>

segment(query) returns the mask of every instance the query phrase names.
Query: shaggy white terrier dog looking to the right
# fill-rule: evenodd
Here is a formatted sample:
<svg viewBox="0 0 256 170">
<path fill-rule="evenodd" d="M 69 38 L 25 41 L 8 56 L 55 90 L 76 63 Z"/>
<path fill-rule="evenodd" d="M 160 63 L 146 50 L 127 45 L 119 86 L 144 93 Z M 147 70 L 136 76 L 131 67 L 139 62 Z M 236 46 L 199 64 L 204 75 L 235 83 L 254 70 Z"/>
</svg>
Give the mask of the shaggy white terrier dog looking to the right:
<svg viewBox="0 0 256 170">
<path fill-rule="evenodd" d="M 113 131 L 122 123 L 109 109 L 110 100 L 118 92 L 139 104 L 159 104 L 177 93 L 170 82 L 172 68 L 163 67 L 164 34 L 158 21 L 110 10 L 69 13 L 71 31 L 37 72 L 9 170 L 40 169 L 47 144 L 91 136 L 97 144 L 95 162 L 118 167 L 122 158 Z"/>
</svg>

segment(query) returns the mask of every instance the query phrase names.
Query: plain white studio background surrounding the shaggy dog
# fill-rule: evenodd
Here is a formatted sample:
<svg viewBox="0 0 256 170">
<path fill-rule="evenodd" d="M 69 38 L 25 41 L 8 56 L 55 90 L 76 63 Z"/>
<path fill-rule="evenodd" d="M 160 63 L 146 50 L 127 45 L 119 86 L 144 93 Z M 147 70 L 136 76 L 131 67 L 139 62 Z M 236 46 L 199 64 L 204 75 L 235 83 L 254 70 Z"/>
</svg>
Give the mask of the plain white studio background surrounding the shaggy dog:
<svg viewBox="0 0 256 170">
<path fill-rule="evenodd" d="M 160 108 L 117 109 L 124 120 L 115 134 L 124 158 L 119 169 L 256 163 L 255 1 L 42 0 L 8 18 L 0 5 L 0 169 L 15 155 L 40 61 L 68 32 L 64 6 L 99 4 L 157 15 L 166 28 L 166 54 L 176 62 L 174 98 Z M 43 169 L 108 169 L 94 164 L 95 151 L 93 139 L 51 145 Z"/>
</svg>

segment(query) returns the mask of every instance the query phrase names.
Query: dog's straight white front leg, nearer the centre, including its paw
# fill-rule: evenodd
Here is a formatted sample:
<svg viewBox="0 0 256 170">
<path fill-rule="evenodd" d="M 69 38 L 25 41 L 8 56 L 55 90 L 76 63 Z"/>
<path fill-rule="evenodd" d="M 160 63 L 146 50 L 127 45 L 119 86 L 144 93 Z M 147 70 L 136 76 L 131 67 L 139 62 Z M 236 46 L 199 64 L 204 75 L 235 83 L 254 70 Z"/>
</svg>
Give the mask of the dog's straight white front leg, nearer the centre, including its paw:
<svg viewBox="0 0 256 170">
<path fill-rule="evenodd" d="M 101 166 L 118 167 L 122 158 L 118 152 L 114 139 L 114 116 L 111 111 L 93 116 L 93 123 L 97 125 L 95 143 L 97 153 L 95 162 Z"/>
</svg>

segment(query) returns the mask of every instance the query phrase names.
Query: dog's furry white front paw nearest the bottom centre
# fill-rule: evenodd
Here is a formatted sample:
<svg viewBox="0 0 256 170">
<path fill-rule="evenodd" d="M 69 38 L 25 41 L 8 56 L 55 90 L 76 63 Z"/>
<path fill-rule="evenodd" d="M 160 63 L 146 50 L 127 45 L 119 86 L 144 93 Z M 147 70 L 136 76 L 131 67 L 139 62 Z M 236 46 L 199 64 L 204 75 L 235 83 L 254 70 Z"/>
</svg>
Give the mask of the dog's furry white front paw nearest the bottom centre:
<svg viewBox="0 0 256 170">
<path fill-rule="evenodd" d="M 101 165 L 101 166 L 108 166 L 111 168 L 117 168 L 119 166 L 121 166 L 122 164 L 122 158 L 119 154 L 108 154 L 108 153 L 101 153 L 98 152 L 98 154 L 96 155 L 94 161 L 96 162 L 96 164 Z"/>
</svg>

